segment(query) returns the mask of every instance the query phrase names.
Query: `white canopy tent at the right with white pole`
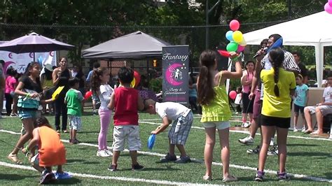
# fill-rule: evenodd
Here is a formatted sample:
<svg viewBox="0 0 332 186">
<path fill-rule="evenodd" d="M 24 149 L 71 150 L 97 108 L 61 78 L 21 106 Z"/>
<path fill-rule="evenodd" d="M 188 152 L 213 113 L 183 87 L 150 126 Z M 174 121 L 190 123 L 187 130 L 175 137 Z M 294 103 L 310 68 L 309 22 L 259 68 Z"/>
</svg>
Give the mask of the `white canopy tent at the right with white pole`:
<svg viewBox="0 0 332 186">
<path fill-rule="evenodd" d="M 332 15 L 325 11 L 305 17 L 275 24 L 244 34 L 248 45 L 259 45 L 271 34 L 280 34 L 284 45 L 314 46 L 317 83 L 321 86 L 323 78 L 324 46 L 332 45 Z"/>
</svg>

